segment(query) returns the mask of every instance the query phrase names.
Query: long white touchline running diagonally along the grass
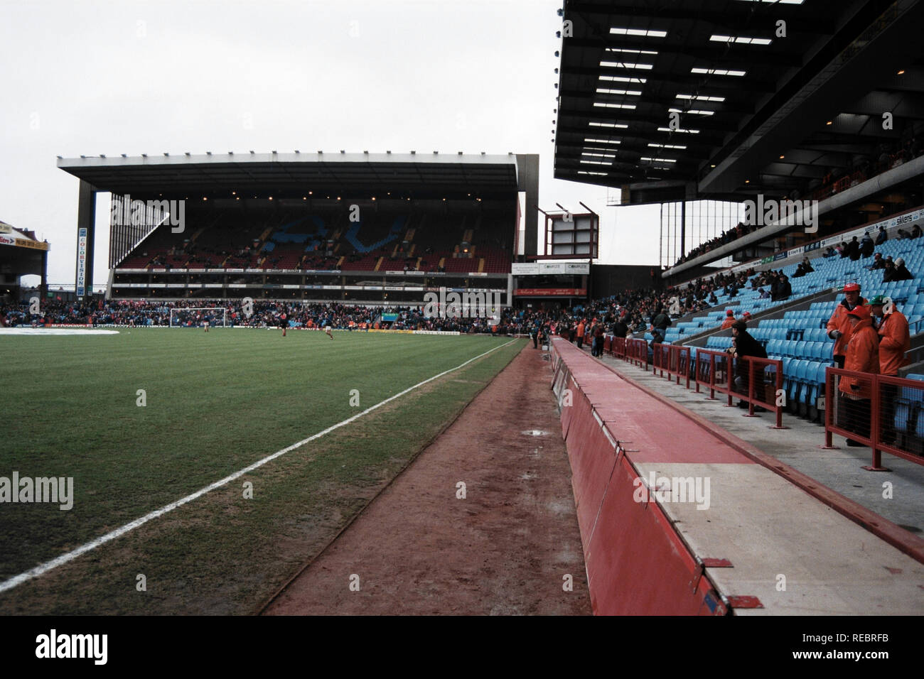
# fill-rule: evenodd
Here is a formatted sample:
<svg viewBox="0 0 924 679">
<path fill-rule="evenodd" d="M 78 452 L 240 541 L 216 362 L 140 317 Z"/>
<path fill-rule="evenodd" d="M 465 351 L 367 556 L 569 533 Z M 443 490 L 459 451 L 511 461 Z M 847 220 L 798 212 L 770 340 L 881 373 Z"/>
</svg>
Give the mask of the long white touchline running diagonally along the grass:
<svg viewBox="0 0 924 679">
<path fill-rule="evenodd" d="M 197 498 L 200 498 L 202 495 L 204 495 L 205 493 L 207 493 L 207 492 L 209 492 L 209 491 L 214 491 L 216 488 L 221 488 L 221 487 L 224 486 L 226 483 L 230 483 L 230 482 L 233 481 L 234 479 L 239 479 L 240 477 L 244 476 L 244 475 L 247 474 L 248 472 L 251 472 L 251 471 L 253 471 L 254 469 L 256 469 L 256 468 L 258 468 L 258 467 L 262 467 L 262 466 L 265 465 L 267 462 L 270 462 L 271 460 L 276 459 L 276 458 L 279 457 L 280 455 L 286 455 L 286 453 L 289 453 L 289 452 L 295 450 L 296 448 L 298 448 L 298 447 L 304 445 L 305 443 L 310 443 L 310 442 L 314 441 L 315 439 L 320 439 L 322 436 L 324 436 L 324 435 L 326 435 L 326 434 L 329 434 L 331 431 L 340 429 L 340 428 L 343 427 L 344 425 L 349 424 L 350 422 L 352 422 L 352 421 L 354 421 L 354 420 L 356 420 L 356 419 L 361 418 L 363 415 L 366 415 L 367 413 L 371 413 L 371 412 L 372 412 L 373 410 L 375 410 L 376 408 L 381 407 L 381 406 L 384 406 L 386 403 L 389 403 L 389 402 L 391 402 L 391 401 L 394 401 L 395 398 L 399 398 L 400 396 L 403 396 L 404 394 L 407 394 L 408 392 L 412 392 L 412 391 L 414 391 L 415 389 L 417 389 L 417 388 L 423 386 L 423 385 L 426 384 L 427 382 L 432 382 L 433 380 L 438 380 L 439 378 L 443 377 L 444 375 L 449 374 L 450 372 L 454 372 L 455 370 L 459 370 L 460 368 L 465 368 L 465 367 L 466 367 L 469 363 L 471 363 L 473 360 L 478 360 L 478 359 L 481 358 L 482 356 L 487 356 L 488 354 L 491 354 L 492 352 L 497 351 L 498 349 L 503 349 L 505 346 L 512 345 L 512 344 L 513 344 L 514 342 L 516 342 L 516 341 L 517 341 L 517 340 L 510 340 L 509 342 L 507 342 L 507 343 L 504 344 L 504 345 L 495 346 L 494 348 L 492 348 L 492 349 L 490 349 L 490 350 L 488 350 L 488 351 L 485 351 L 483 354 L 479 354 L 478 356 L 476 356 L 476 357 L 474 357 L 474 358 L 469 358 L 465 363 L 460 363 L 460 364 L 457 365 L 455 368 L 450 368 L 449 370 L 444 370 L 444 371 L 441 372 L 440 374 L 438 374 L 438 375 L 433 375 L 431 378 L 428 378 L 428 379 L 424 380 L 423 382 L 418 382 L 418 383 L 415 384 L 414 386 L 407 387 L 407 389 L 405 389 L 403 392 L 400 392 L 400 393 L 398 393 L 398 394 L 395 394 L 394 396 L 389 396 L 389 397 L 386 398 L 384 401 L 382 401 L 382 402 L 380 402 L 380 403 L 377 403 L 377 404 L 375 404 L 374 406 L 371 406 L 371 407 L 366 408 L 366 409 L 363 410 L 361 413 L 357 413 L 356 415 L 354 415 L 352 418 L 346 418 L 346 419 L 343 420 L 342 422 L 337 422 L 337 423 L 334 424 L 334 426 L 332 426 L 332 427 L 328 427 L 327 429 L 325 429 L 325 430 L 323 430 L 323 431 L 319 431 L 318 433 L 314 434 L 313 436 L 309 436 L 307 439 L 304 439 L 304 440 L 302 440 L 302 441 L 299 441 L 298 443 L 293 443 L 292 445 L 287 446 L 286 448 L 283 448 L 282 450 L 276 451 L 273 455 L 267 455 L 267 456 L 264 457 L 263 459 L 258 460 L 257 462 L 254 462 L 254 463 L 253 463 L 252 465 L 250 465 L 249 467 L 244 467 L 243 469 L 240 469 L 239 471 L 236 471 L 236 472 L 235 472 L 234 474 L 232 474 L 231 476 L 227 476 L 227 477 L 225 477 L 224 479 L 215 481 L 212 485 L 206 486 L 205 488 L 203 488 L 203 489 L 201 489 L 201 490 L 199 490 L 199 491 L 196 491 L 196 492 L 192 493 L 191 495 L 187 495 L 185 498 L 182 498 L 182 499 L 180 499 L 180 500 L 177 500 L 176 502 L 173 502 L 173 503 L 169 503 L 169 504 L 165 505 L 164 507 L 161 507 L 160 509 L 154 510 L 154 511 L 151 512 L 150 514 L 143 515 L 143 516 L 141 516 L 140 518 L 137 518 L 137 519 L 135 519 L 134 521 L 131 521 L 131 522 L 127 523 L 125 526 L 118 527 L 118 528 L 116 528 L 116 530 L 112 530 L 112 531 L 106 533 L 105 535 L 103 535 L 103 536 L 101 536 L 101 537 L 99 537 L 99 538 L 96 538 L 95 540 L 91 540 L 90 542 L 86 542 L 86 543 L 80 545 L 77 549 L 71 550 L 70 552 L 67 552 L 67 553 L 65 553 L 65 554 L 61 554 L 61 556 L 58 556 L 58 557 L 56 557 L 55 559 L 52 559 L 51 561 L 46 561 L 44 564 L 39 564 L 39 565 L 35 566 L 34 568 L 31 568 L 30 570 L 26 571 L 25 573 L 20 573 L 18 576 L 13 576 L 13 577 L 9 578 L 8 580 L 4 580 L 3 582 L 0 582 L 0 592 L 5 592 L 5 591 L 7 591 L 8 589 L 12 589 L 12 588 L 18 587 L 19 585 L 21 585 L 22 583 L 26 582 L 27 580 L 32 579 L 33 577 L 43 576 L 44 574 L 48 573 L 48 571 L 50 571 L 50 570 L 52 570 L 52 569 L 54 569 L 54 568 L 57 568 L 59 565 L 64 565 L 64 564 L 67 564 L 67 562 L 73 561 L 74 559 L 76 559 L 77 557 L 79 557 L 80 554 L 83 554 L 84 552 L 90 552 L 91 550 L 95 550 L 97 547 L 99 547 L 100 545 L 105 544 L 106 542 L 111 542 L 112 540 L 116 540 L 116 538 L 121 538 L 123 535 L 125 535 L 126 533 L 128 533 L 128 531 L 134 530 L 134 529 L 137 528 L 137 527 L 143 526 L 144 524 L 148 523 L 149 521 L 152 521 L 153 519 L 157 518 L 158 516 L 163 516 L 164 514 L 167 514 L 168 512 L 172 512 L 173 510 L 176 509 L 176 507 L 180 507 L 180 506 L 182 506 L 182 505 L 184 505 L 184 504 L 186 504 L 186 503 L 190 503 L 190 502 L 192 502 L 193 500 L 196 500 Z"/>
</svg>

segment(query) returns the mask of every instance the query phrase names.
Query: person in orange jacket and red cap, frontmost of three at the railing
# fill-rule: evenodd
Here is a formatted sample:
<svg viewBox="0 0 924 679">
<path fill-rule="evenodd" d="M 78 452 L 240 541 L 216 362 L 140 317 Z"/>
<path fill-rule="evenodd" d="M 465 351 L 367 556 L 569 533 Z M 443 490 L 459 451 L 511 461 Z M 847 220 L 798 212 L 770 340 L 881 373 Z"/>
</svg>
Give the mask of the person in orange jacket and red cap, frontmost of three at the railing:
<svg viewBox="0 0 924 679">
<path fill-rule="evenodd" d="M 844 362 L 845 370 L 879 374 L 879 335 L 872 327 L 869 307 L 858 305 L 846 312 L 850 323 L 850 339 L 847 342 Z M 869 406 L 872 387 L 868 380 L 857 377 L 842 377 L 838 391 L 845 398 L 846 422 L 844 429 L 853 431 L 862 438 L 869 438 Z M 847 445 L 862 446 L 865 443 L 847 439 Z"/>
</svg>

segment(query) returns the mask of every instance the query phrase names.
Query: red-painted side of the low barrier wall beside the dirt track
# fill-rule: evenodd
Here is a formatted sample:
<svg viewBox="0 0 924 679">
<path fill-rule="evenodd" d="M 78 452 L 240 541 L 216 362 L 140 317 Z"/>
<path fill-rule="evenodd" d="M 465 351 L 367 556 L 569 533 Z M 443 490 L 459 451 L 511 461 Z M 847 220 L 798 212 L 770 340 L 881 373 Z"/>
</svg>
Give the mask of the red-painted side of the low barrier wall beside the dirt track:
<svg viewBox="0 0 924 679">
<path fill-rule="evenodd" d="M 658 504 L 636 502 L 638 474 L 611 430 L 631 430 L 626 420 L 638 411 L 614 398 L 618 378 L 567 342 L 554 341 L 552 350 L 593 612 L 725 614 L 721 596 Z M 570 395 L 570 406 L 563 395 Z"/>
</svg>

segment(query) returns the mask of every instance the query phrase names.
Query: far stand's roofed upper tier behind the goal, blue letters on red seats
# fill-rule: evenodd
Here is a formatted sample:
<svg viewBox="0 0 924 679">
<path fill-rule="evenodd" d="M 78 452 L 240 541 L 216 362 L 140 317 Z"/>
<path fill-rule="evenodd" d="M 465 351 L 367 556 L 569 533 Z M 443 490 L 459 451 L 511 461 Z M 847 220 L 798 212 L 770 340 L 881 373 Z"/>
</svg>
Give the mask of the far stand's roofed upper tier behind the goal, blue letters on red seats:
<svg viewBox="0 0 924 679">
<path fill-rule="evenodd" d="M 107 296 L 419 305 L 503 293 L 538 250 L 539 156 L 227 152 L 59 158 L 79 179 L 91 280 L 109 192 Z"/>
</svg>

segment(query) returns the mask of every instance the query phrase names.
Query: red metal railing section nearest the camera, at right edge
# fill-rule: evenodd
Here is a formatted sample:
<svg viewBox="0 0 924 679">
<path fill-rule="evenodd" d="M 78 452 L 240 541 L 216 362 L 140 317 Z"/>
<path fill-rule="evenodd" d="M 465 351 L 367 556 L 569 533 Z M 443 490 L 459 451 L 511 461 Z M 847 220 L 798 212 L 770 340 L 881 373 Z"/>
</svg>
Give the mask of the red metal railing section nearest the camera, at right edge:
<svg viewBox="0 0 924 679">
<path fill-rule="evenodd" d="M 869 446 L 870 471 L 888 471 L 882 453 L 924 465 L 924 382 L 840 368 L 824 382 L 824 447 L 833 434 Z"/>
</svg>

